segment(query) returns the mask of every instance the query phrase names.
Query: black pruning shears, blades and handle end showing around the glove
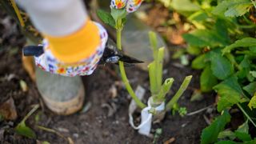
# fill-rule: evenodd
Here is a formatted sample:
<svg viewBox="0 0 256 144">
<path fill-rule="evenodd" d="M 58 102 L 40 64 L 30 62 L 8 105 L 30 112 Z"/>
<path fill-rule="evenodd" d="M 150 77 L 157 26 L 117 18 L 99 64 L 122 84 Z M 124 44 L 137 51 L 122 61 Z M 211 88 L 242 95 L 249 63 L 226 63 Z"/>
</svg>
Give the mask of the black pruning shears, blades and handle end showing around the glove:
<svg viewBox="0 0 256 144">
<path fill-rule="evenodd" d="M 24 56 L 40 56 L 44 53 L 43 46 L 25 46 L 23 48 Z M 102 55 L 102 58 L 98 62 L 98 64 L 116 64 L 118 62 L 124 62 L 124 66 L 134 66 L 135 63 L 142 63 L 141 60 L 137 58 L 132 58 L 126 54 L 123 54 L 122 51 L 118 50 L 116 43 L 112 39 L 108 39 L 106 43 L 106 48 Z"/>
</svg>

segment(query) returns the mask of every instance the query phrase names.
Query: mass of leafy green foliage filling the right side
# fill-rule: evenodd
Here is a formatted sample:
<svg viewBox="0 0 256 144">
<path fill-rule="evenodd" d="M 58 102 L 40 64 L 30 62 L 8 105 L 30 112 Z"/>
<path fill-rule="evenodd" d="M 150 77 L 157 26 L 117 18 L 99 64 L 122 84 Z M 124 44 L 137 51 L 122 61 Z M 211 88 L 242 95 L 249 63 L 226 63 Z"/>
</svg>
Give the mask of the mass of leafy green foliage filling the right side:
<svg viewBox="0 0 256 144">
<path fill-rule="evenodd" d="M 221 136 L 226 131 L 222 130 L 230 122 L 229 110 L 233 107 L 238 107 L 242 111 L 245 115 L 245 123 L 232 132 L 234 137 L 230 140 L 255 143 L 248 129 L 256 126 L 254 110 L 256 107 L 256 2 L 253 0 L 159 0 L 159 2 L 170 10 L 182 14 L 192 25 L 193 30 L 183 34 L 188 44 L 186 52 L 196 57 L 191 66 L 202 70 L 201 91 L 214 90 L 218 94 L 217 109 L 222 115 L 202 131 L 202 143 L 213 143 L 223 139 Z M 241 127 L 246 128 L 241 130 Z"/>
</svg>

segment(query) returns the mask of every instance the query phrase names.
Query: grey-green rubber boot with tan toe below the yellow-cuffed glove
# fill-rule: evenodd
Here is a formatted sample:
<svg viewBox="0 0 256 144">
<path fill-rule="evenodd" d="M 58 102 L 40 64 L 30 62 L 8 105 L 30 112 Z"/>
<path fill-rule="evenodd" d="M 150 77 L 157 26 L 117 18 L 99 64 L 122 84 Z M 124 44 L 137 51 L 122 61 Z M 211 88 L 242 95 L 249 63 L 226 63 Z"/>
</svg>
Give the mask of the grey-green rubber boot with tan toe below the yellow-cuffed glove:
<svg viewBox="0 0 256 144">
<path fill-rule="evenodd" d="M 36 69 L 36 83 L 46 106 L 56 114 L 74 114 L 82 108 L 85 90 L 81 77 L 64 77 Z"/>
</svg>

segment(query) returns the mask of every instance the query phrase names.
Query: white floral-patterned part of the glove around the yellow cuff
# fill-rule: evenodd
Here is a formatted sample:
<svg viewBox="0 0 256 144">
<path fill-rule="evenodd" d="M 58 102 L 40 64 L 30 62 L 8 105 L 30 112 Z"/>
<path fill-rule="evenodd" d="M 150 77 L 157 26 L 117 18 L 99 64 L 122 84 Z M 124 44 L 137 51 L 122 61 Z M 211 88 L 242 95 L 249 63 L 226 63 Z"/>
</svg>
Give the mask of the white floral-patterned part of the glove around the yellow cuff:
<svg viewBox="0 0 256 144">
<path fill-rule="evenodd" d="M 93 73 L 93 71 L 96 69 L 97 63 L 102 57 L 102 54 L 104 52 L 106 42 L 108 39 L 108 34 L 106 30 L 97 22 L 91 22 L 89 20 L 90 24 L 97 26 L 98 31 L 90 31 L 92 33 L 98 33 L 98 37 L 100 38 L 100 42 L 98 43 L 97 47 L 94 47 L 94 50 L 90 54 L 89 57 L 83 58 L 82 60 L 79 60 L 76 62 L 76 56 L 75 58 L 70 58 L 67 59 L 67 61 L 72 62 L 72 63 L 66 63 L 62 62 L 61 59 L 65 60 L 65 58 L 57 58 L 56 54 L 53 53 L 51 49 L 51 44 L 47 40 L 47 37 L 43 40 L 42 46 L 44 48 L 44 54 L 34 57 L 35 58 L 35 63 L 36 66 L 40 67 L 42 70 L 45 70 L 47 72 L 50 72 L 52 74 L 61 74 L 64 76 L 70 76 L 74 77 L 76 75 L 90 75 Z M 81 30 L 80 30 L 81 31 Z M 79 33 L 79 32 L 78 32 Z M 81 32 L 82 33 L 82 32 Z M 78 34 L 76 34 L 78 35 Z M 88 34 L 91 36 L 91 34 Z M 88 42 L 90 43 L 90 42 Z M 86 49 L 86 44 L 83 47 Z M 72 46 L 71 46 L 72 49 Z M 81 55 L 80 55 L 81 56 Z M 79 57 L 79 54 L 78 54 Z M 70 61 L 71 60 L 71 61 Z"/>
</svg>

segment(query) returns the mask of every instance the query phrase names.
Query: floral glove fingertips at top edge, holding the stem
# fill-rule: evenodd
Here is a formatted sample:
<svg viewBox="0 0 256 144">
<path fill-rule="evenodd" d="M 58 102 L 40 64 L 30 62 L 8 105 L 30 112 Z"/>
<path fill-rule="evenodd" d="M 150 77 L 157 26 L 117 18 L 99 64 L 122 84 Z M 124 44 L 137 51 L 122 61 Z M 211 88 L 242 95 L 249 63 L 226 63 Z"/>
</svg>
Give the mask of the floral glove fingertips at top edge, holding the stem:
<svg viewBox="0 0 256 144">
<path fill-rule="evenodd" d="M 138 10 L 143 0 L 111 0 L 110 7 L 115 9 L 122 9 L 126 6 L 127 13 L 133 13 Z"/>
</svg>

